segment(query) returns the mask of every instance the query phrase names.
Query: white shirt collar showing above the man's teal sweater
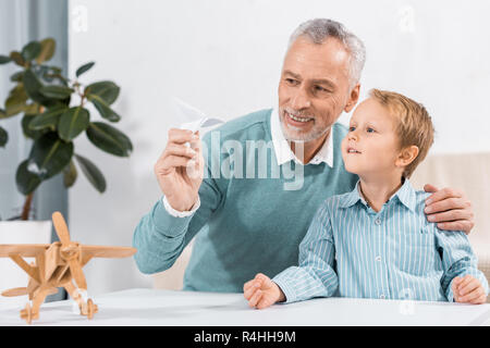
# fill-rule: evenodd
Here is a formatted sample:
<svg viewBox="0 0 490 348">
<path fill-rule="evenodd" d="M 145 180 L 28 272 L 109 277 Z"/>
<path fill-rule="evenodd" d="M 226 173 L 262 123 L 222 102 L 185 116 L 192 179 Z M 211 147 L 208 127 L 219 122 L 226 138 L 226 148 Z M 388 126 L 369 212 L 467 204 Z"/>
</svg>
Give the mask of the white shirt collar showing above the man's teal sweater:
<svg viewBox="0 0 490 348">
<path fill-rule="evenodd" d="M 274 108 L 270 114 L 270 133 L 272 137 L 272 144 L 274 146 L 275 158 L 278 159 L 278 165 L 282 165 L 290 161 L 294 161 L 297 164 L 303 164 L 297 157 L 291 151 L 290 144 L 284 138 L 282 133 L 281 123 L 279 121 L 278 108 Z M 306 164 L 320 164 L 321 162 L 327 163 L 330 167 L 333 167 L 333 136 L 332 129 L 328 138 L 324 140 L 321 149 L 315 154 L 315 157 Z"/>
</svg>

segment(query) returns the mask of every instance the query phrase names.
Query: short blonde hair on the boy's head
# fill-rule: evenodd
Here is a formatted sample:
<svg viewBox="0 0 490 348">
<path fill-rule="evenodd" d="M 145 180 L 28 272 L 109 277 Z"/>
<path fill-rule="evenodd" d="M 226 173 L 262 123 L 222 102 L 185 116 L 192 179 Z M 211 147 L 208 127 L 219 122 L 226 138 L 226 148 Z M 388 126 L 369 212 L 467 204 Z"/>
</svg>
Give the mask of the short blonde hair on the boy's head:
<svg viewBox="0 0 490 348">
<path fill-rule="evenodd" d="M 371 89 L 369 96 L 385 107 L 395 117 L 396 135 L 400 140 L 400 149 L 415 145 L 418 147 L 418 156 L 405 167 L 403 176 L 408 178 L 417 165 L 424 161 L 433 142 L 433 125 L 426 108 L 405 96 L 394 91 Z"/>
</svg>

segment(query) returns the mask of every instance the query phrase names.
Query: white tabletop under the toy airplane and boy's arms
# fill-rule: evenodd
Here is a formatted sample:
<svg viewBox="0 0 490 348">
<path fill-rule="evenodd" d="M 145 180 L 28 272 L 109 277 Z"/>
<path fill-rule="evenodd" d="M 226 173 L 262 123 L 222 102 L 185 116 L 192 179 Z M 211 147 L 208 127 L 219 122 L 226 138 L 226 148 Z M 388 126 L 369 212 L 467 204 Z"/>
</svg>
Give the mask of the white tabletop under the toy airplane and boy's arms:
<svg viewBox="0 0 490 348">
<path fill-rule="evenodd" d="M 27 297 L 26 297 L 27 299 Z M 74 314 L 72 301 L 41 306 L 34 325 L 317 326 L 485 325 L 490 304 L 321 298 L 265 310 L 248 308 L 242 294 L 128 289 L 94 297 L 93 320 Z M 26 325 L 20 307 L 1 304 L 0 326 Z"/>
</svg>

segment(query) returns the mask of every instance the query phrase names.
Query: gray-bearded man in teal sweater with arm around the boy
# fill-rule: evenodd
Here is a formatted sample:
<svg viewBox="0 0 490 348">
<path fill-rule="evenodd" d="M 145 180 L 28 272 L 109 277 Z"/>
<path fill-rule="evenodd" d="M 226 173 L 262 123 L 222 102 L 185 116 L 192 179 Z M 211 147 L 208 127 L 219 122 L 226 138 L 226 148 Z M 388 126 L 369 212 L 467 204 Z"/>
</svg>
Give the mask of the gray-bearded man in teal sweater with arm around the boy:
<svg viewBox="0 0 490 348">
<path fill-rule="evenodd" d="M 155 165 L 163 197 L 134 234 L 139 270 L 169 269 L 196 235 L 184 289 L 242 291 L 258 272 L 274 276 L 297 264 L 320 202 L 358 179 L 344 170 L 340 144 L 347 130 L 335 121 L 357 103 L 364 62 L 363 42 L 342 24 L 308 21 L 290 39 L 278 108 L 228 122 L 203 142 L 191 130 L 171 129 Z M 426 189 L 436 191 L 429 220 L 469 233 L 464 195 Z"/>
</svg>

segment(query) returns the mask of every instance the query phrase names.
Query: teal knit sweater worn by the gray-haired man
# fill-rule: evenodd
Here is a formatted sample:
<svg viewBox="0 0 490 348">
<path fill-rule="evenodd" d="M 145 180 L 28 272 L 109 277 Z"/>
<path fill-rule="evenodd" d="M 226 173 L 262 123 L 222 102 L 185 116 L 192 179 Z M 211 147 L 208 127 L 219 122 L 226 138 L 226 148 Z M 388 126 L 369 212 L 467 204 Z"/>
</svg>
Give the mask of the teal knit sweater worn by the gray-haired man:
<svg viewBox="0 0 490 348">
<path fill-rule="evenodd" d="M 271 110 L 258 111 L 203 137 L 209 156 L 200 207 L 192 216 L 174 217 L 160 199 L 142 217 L 133 246 L 143 273 L 172 266 L 195 236 L 186 290 L 240 293 L 256 273 L 273 277 L 297 264 L 299 243 L 320 203 L 351 191 L 358 177 L 343 165 L 347 129 L 341 124 L 332 127 L 333 167 L 294 161 L 279 166 L 270 115 Z"/>
</svg>

